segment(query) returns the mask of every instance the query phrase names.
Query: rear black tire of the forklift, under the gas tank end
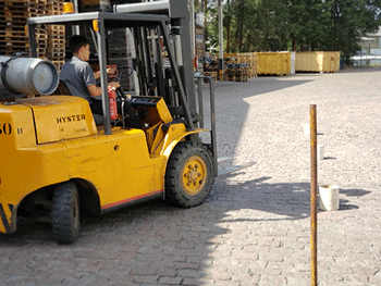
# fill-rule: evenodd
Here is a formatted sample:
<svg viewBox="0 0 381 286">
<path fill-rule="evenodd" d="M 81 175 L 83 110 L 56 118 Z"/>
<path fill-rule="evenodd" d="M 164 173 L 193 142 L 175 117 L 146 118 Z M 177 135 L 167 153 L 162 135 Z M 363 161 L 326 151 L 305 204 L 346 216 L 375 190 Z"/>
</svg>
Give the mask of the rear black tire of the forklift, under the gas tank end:
<svg viewBox="0 0 381 286">
<path fill-rule="evenodd" d="M 72 244 L 79 235 L 81 212 L 76 185 L 65 182 L 54 187 L 52 228 L 59 244 Z"/>
</svg>

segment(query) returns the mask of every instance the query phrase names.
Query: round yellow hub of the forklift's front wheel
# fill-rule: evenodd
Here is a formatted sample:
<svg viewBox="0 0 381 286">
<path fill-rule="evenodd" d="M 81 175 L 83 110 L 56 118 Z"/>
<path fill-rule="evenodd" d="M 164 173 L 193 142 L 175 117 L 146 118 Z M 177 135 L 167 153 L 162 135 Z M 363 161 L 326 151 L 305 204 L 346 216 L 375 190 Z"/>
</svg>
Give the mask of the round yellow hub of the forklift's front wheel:
<svg viewBox="0 0 381 286">
<path fill-rule="evenodd" d="M 188 195 L 197 195 L 205 185 L 208 170 L 200 157 L 193 156 L 184 164 L 181 174 L 184 191 Z"/>
</svg>

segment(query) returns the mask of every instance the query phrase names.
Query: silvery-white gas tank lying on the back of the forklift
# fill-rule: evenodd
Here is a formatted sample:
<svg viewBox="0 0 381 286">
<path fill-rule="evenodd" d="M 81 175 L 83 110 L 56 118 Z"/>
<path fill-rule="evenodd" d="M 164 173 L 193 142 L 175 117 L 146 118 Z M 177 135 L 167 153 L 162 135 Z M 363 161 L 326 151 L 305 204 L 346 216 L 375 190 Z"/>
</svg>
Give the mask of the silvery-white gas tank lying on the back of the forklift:
<svg viewBox="0 0 381 286">
<path fill-rule="evenodd" d="M 0 57 L 0 88 L 11 94 L 51 95 L 59 82 L 57 67 L 48 60 Z"/>
</svg>

